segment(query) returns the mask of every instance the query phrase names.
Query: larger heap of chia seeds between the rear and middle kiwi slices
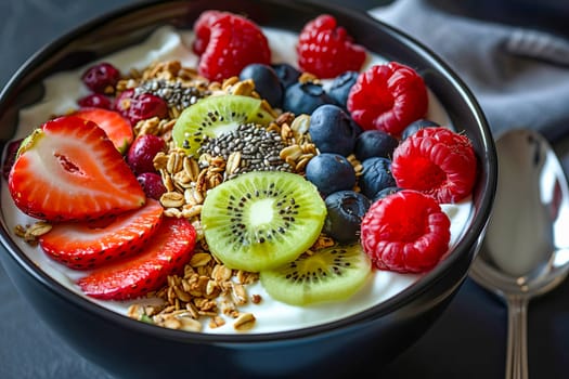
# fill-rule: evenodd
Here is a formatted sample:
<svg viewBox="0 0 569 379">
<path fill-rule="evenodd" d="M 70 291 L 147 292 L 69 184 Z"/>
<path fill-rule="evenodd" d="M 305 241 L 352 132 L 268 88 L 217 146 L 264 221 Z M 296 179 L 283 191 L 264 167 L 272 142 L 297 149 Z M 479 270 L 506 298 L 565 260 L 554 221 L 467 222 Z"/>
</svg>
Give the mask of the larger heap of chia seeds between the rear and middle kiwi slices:
<svg viewBox="0 0 569 379">
<path fill-rule="evenodd" d="M 198 153 L 221 156 L 228 160 L 232 153 L 240 152 L 240 167 L 229 177 L 231 179 L 249 171 L 292 172 L 290 165 L 280 157 L 284 147 L 285 144 L 279 133 L 255 123 L 246 123 L 218 138 L 205 136 Z"/>
</svg>

